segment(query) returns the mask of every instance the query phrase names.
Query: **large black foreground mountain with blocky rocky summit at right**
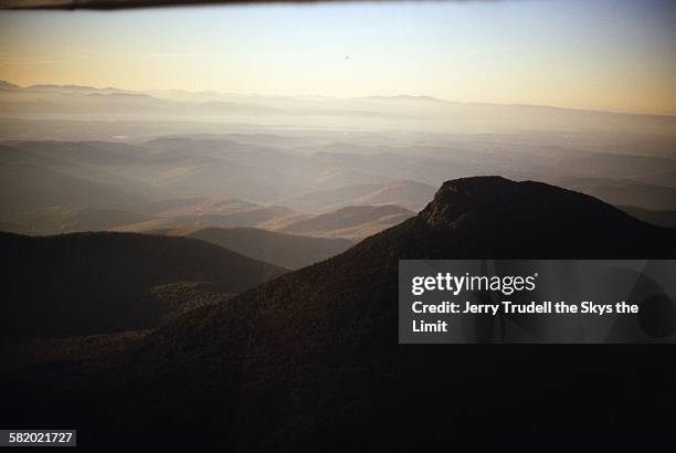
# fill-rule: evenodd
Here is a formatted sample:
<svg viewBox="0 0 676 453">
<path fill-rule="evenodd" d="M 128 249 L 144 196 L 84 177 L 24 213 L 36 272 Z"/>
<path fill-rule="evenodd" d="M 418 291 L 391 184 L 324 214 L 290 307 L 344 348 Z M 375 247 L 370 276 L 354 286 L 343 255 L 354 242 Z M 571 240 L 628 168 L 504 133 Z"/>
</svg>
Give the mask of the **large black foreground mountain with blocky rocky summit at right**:
<svg viewBox="0 0 676 453">
<path fill-rule="evenodd" d="M 14 376 L 0 422 L 77 426 L 92 451 L 664 450 L 673 348 L 399 345 L 398 265 L 675 255 L 673 230 L 581 193 L 448 181 L 416 217 L 122 356 Z"/>
</svg>

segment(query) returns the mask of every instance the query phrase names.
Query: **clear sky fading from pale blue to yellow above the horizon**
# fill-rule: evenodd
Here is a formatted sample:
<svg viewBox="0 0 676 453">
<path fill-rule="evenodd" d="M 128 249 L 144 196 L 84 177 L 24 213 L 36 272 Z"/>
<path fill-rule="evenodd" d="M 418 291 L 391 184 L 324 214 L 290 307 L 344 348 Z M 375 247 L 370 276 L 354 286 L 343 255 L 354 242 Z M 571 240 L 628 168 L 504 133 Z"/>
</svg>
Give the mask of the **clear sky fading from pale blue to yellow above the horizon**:
<svg viewBox="0 0 676 453">
<path fill-rule="evenodd" d="M 676 115 L 676 2 L 6 11 L 0 80 Z"/>
</svg>

